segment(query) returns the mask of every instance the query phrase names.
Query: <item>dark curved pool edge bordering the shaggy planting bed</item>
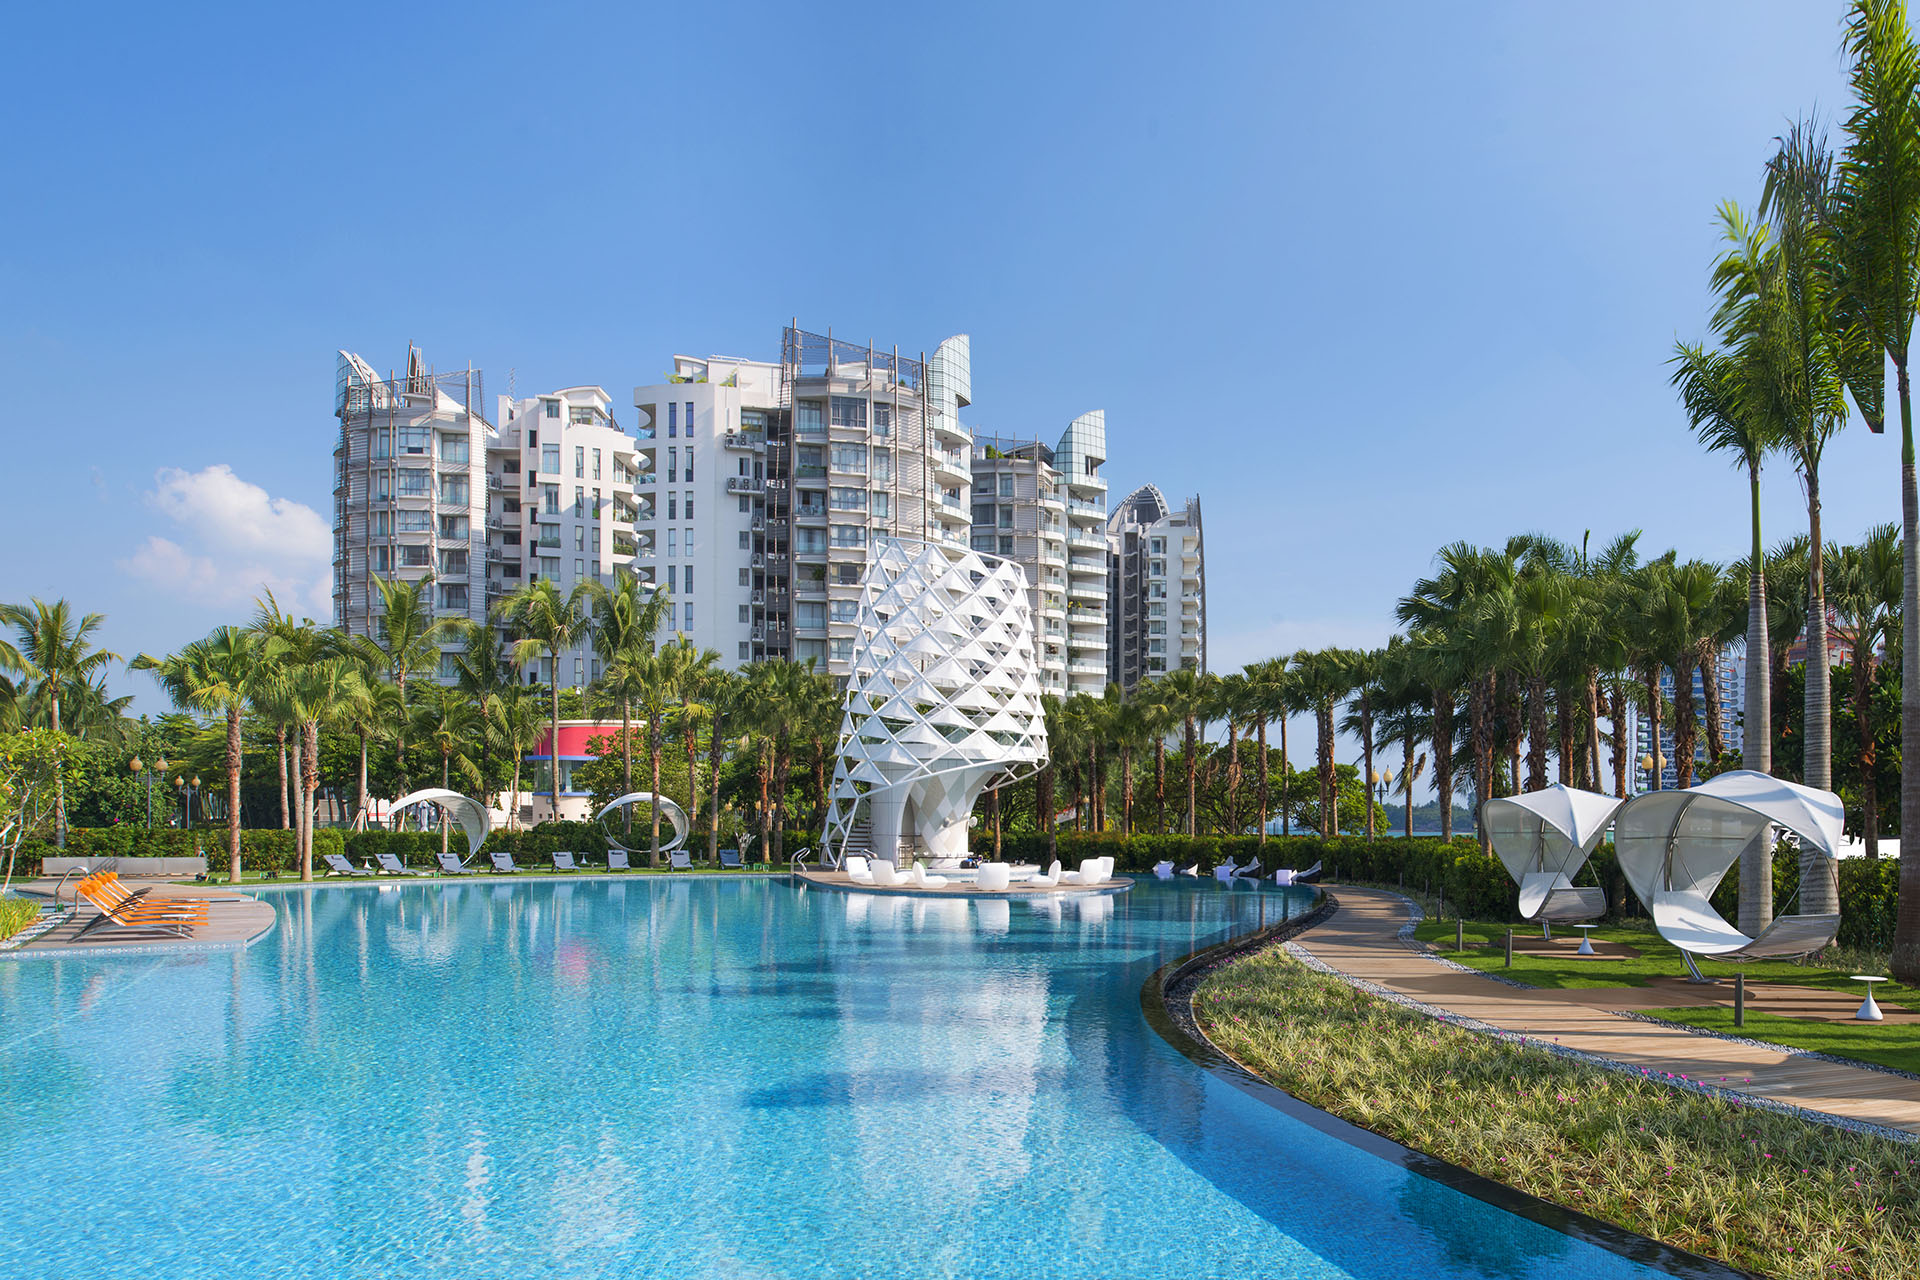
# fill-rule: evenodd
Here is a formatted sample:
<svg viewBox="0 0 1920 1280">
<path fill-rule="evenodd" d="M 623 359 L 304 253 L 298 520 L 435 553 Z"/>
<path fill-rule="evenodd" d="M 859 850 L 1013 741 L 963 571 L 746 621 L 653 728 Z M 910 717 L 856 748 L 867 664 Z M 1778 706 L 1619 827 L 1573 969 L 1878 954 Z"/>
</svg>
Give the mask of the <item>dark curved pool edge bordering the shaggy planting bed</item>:
<svg viewBox="0 0 1920 1280">
<path fill-rule="evenodd" d="M 1200 1031 L 1200 1025 L 1192 1017 L 1190 1000 L 1194 988 L 1213 969 L 1219 969 L 1248 952 L 1286 942 L 1294 935 L 1306 933 L 1332 915 L 1338 908 L 1338 898 L 1323 889 L 1315 889 L 1313 892 L 1319 894 L 1319 902 L 1315 902 L 1313 910 L 1306 915 L 1267 925 L 1263 929 L 1252 929 L 1235 938 L 1227 938 L 1225 942 L 1215 942 L 1213 946 L 1204 946 L 1150 973 L 1146 983 L 1140 984 L 1140 1013 L 1148 1027 L 1152 1027 L 1169 1046 L 1179 1050 L 1187 1059 L 1202 1067 L 1213 1079 L 1267 1103 L 1288 1119 L 1300 1121 L 1329 1138 L 1338 1138 L 1340 1142 L 1367 1151 L 1369 1155 L 1377 1155 L 1379 1159 L 1398 1165 L 1407 1173 L 1430 1178 L 1432 1182 L 1440 1182 L 1442 1186 L 1494 1205 L 1496 1209 L 1505 1209 L 1515 1217 L 1523 1217 L 1572 1240 L 1607 1249 L 1609 1253 L 1624 1257 L 1632 1263 L 1665 1270 L 1670 1276 L 1680 1276 L 1682 1280 L 1751 1280 L 1747 1272 L 1736 1270 L 1726 1263 L 1661 1244 L 1649 1236 L 1630 1232 L 1624 1226 L 1588 1217 L 1578 1209 L 1567 1209 L 1549 1199 L 1528 1196 L 1526 1192 L 1511 1188 L 1503 1182 L 1494 1182 L 1492 1178 L 1476 1174 L 1471 1169 L 1461 1169 L 1459 1165 L 1450 1165 L 1442 1159 L 1427 1155 L 1425 1151 L 1415 1151 L 1413 1148 L 1402 1146 L 1392 1138 L 1384 1138 L 1371 1128 L 1361 1128 L 1359 1125 L 1342 1121 L 1329 1111 L 1321 1111 L 1311 1103 L 1300 1102 L 1277 1084 L 1269 1084 L 1208 1040 L 1206 1032 Z"/>
</svg>

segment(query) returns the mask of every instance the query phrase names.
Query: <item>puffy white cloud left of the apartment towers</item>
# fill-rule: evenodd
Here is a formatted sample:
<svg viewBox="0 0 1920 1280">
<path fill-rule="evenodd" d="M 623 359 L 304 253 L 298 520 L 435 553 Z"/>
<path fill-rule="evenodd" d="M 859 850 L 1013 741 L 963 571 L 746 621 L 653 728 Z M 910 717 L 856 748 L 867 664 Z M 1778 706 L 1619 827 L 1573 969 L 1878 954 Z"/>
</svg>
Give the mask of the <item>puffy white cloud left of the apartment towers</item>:
<svg viewBox="0 0 1920 1280">
<path fill-rule="evenodd" d="M 273 591 L 288 612 L 332 616 L 332 532 L 311 507 L 225 464 L 161 468 L 146 501 L 179 541 L 150 533 L 117 562 L 123 574 L 184 601 L 244 608 Z"/>
</svg>

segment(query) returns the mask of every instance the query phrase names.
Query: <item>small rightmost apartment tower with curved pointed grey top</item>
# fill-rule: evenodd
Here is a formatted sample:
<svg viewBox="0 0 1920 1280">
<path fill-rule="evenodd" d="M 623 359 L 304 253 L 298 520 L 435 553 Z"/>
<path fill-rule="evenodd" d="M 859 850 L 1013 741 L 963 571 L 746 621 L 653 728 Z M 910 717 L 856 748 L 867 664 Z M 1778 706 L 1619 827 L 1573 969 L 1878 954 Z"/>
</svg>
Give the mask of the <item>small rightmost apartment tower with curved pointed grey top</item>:
<svg viewBox="0 0 1920 1280">
<path fill-rule="evenodd" d="M 1181 668 L 1206 670 L 1206 541 L 1200 499 L 1175 510 L 1140 486 L 1106 526 L 1112 643 L 1108 679 L 1131 691 Z"/>
</svg>

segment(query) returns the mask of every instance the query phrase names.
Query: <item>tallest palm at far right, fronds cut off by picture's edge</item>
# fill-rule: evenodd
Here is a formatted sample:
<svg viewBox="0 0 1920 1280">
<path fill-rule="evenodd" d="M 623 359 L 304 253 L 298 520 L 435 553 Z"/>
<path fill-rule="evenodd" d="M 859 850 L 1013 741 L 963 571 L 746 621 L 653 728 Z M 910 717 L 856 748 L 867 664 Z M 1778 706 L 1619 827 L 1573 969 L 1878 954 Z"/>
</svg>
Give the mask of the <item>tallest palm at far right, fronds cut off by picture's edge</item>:
<svg viewBox="0 0 1920 1280">
<path fill-rule="evenodd" d="M 1874 432 L 1885 367 L 1901 405 L 1901 831 L 1920 831 L 1920 486 L 1914 482 L 1908 344 L 1920 299 L 1920 48 L 1905 0 L 1855 0 L 1847 19 L 1853 111 L 1830 201 L 1847 382 Z M 1857 353 L 1872 349 L 1872 359 Z M 1809 681 L 1811 683 L 1811 681 Z M 1872 837 L 1868 837 L 1872 839 Z M 1920 841 L 1901 844 L 1901 898 L 1887 965 L 1920 983 Z"/>
</svg>

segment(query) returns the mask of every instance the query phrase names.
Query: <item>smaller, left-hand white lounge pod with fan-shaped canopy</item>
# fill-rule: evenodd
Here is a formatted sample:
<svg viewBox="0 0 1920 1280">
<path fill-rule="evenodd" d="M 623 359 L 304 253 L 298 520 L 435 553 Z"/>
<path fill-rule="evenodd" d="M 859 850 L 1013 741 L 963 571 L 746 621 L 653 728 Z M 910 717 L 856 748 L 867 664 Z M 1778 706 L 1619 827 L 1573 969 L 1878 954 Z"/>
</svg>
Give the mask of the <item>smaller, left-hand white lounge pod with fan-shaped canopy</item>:
<svg viewBox="0 0 1920 1280">
<path fill-rule="evenodd" d="M 1607 913 L 1607 890 L 1574 885 L 1572 877 L 1594 856 L 1620 804 L 1613 796 L 1555 785 L 1480 806 L 1480 827 L 1494 856 L 1521 887 L 1521 919 L 1538 919 L 1551 938 L 1555 921 Z"/>
</svg>

